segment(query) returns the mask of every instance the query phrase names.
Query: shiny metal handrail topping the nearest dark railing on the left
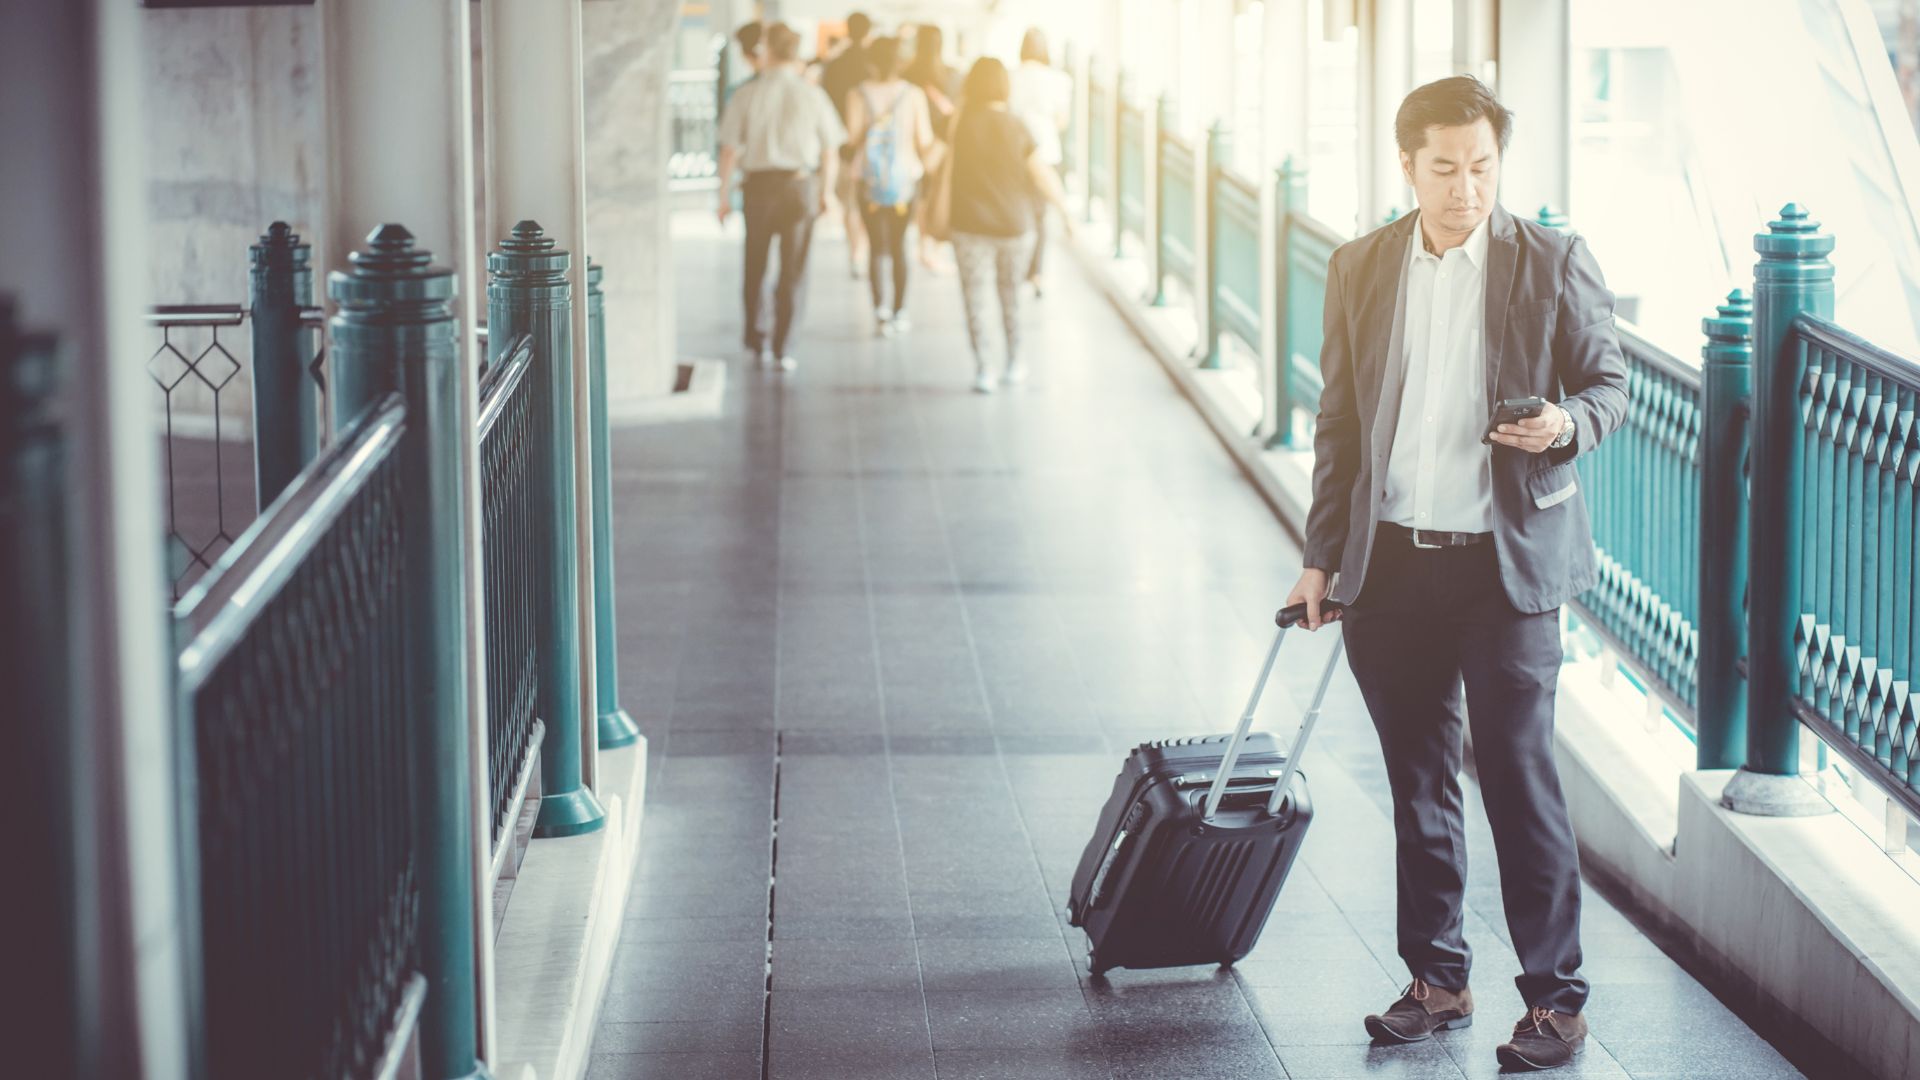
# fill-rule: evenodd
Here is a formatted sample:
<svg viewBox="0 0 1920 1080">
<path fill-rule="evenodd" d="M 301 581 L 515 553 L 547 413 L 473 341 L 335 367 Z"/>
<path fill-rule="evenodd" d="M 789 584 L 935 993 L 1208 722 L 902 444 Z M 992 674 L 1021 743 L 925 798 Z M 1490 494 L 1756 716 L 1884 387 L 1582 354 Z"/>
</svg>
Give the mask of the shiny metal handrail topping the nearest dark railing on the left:
<svg viewBox="0 0 1920 1080">
<path fill-rule="evenodd" d="M 179 663 L 186 694 L 240 644 L 367 479 L 399 450 L 405 425 L 407 405 L 397 394 L 363 413 L 180 598 L 175 617 L 186 630 Z"/>
</svg>

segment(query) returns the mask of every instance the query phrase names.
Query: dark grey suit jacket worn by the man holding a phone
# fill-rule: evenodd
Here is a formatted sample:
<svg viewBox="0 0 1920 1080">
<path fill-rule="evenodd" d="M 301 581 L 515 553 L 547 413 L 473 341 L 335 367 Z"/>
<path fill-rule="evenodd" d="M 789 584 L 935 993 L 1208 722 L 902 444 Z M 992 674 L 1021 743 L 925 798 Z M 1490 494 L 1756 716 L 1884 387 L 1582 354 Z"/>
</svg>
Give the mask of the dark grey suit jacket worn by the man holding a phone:
<svg viewBox="0 0 1920 1080">
<path fill-rule="evenodd" d="M 1313 436 L 1304 565 L 1336 571 L 1332 598 L 1367 578 L 1386 455 L 1405 380 L 1407 240 L 1415 215 L 1342 244 L 1327 269 L 1325 390 Z M 1494 546 L 1507 600 L 1551 611 L 1597 578 L 1574 459 L 1626 419 L 1626 357 L 1613 292 L 1578 236 L 1496 206 L 1486 246 L 1486 400 L 1538 394 L 1572 413 L 1574 442 L 1526 454 L 1494 446 Z"/>
</svg>

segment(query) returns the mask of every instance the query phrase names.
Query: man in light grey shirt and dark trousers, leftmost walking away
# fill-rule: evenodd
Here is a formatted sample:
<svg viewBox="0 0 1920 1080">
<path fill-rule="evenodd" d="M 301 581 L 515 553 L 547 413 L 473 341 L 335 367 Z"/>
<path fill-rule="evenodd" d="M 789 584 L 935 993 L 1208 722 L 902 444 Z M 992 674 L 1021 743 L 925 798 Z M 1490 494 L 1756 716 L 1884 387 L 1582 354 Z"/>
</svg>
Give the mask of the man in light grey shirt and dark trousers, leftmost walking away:
<svg viewBox="0 0 1920 1080">
<path fill-rule="evenodd" d="M 847 142 L 839 111 L 801 73 L 801 35 L 785 23 L 766 31 L 766 67 L 733 92 L 720 113 L 720 223 L 733 208 L 733 171 L 747 217 L 747 352 L 762 367 L 793 371 L 787 352 L 806 306 L 806 250 L 814 219 L 833 204 L 839 148 Z M 780 242 L 772 327 L 766 319 L 766 259 Z"/>
</svg>

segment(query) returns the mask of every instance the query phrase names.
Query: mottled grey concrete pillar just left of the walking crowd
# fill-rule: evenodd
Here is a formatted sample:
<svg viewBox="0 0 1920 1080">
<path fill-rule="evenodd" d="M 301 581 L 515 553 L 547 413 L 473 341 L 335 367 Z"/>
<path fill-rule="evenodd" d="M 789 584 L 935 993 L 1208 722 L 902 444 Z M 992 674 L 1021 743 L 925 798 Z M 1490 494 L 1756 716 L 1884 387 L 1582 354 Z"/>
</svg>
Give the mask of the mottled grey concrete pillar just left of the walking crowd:
<svg viewBox="0 0 1920 1080">
<path fill-rule="evenodd" d="M 735 6 L 739 19 L 749 6 Z M 672 390 L 672 127 L 666 77 L 674 67 L 676 0 L 595 0 L 584 6 L 588 234 L 580 252 L 607 267 L 607 390 L 618 423 L 636 398 Z M 733 27 L 726 27 L 732 33 Z M 541 219 L 545 225 L 545 219 Z M 584 294 L 576 294 L 584 296 Z"/>
</svg>

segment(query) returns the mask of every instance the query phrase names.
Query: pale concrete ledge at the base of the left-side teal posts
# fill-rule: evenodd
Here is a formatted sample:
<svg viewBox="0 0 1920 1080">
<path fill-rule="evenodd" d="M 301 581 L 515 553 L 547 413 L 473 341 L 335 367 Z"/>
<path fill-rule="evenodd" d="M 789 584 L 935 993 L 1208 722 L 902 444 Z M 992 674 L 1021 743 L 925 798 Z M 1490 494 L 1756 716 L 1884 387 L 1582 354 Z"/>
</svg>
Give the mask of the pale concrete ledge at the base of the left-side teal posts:
<svg viewBox="0 0 1920 1080">
<path fill-rule="evenodd" d="M 599 751 L 599 771 L 607 826 L 526 849 L 493 944 L 501 1078 L 586 1074 L 639 855 L 647 740 Z"/>
</svg>

